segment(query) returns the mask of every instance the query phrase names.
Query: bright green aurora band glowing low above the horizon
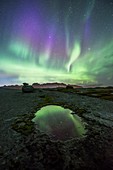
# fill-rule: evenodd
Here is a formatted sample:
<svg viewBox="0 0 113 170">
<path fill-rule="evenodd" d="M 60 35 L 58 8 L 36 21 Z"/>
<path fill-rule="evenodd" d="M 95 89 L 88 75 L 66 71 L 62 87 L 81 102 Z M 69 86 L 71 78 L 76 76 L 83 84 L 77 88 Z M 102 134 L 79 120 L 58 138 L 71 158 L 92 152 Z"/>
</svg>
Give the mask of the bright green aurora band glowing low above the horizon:
<svg viewBox="0 0 113 170">
<path fill-rule="evenodd" d="M 112 67 L 109 67 L 113 63 L 113 42 L 108 44 L 101 50 L 89 50 L 85 55 L 79 56 L 81 46 L 76 43 L 69 60 L 63 63 L 64 67 L 55 67 L 56 62 L 52 61 L 48 68 L 46 53 L 39 55 L 39 64 L 36 64 L 33 60 L 33 56 L 36 55 L 33 49 L 27 45 L 14 43 L 10 44 L 9 53 L 22 56 L 22 60 L 19 57 L 14 58 L 12 55 L 2 54 L 0 68 L 6 74 L 19 75 L 19 82 L 43 83 L 48 82 L 46 78 L 49 78 L 51 82 L 98 83 L 98 76 L 104 75 L 108 80 L 113 76 Z"/>
</svg>

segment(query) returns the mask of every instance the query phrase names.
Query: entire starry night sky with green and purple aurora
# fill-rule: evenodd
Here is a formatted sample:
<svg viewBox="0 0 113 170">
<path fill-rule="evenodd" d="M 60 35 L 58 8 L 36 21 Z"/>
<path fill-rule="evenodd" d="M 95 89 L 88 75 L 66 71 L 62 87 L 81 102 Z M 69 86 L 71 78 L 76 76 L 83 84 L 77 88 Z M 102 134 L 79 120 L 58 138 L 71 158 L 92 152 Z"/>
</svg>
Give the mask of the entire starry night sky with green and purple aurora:
<svg viewBox="0 0 113 170">
<path fill-rule="evenodd" d="M 0 85 L 113 85 L 113 0 L 0 0 Z"/>
</svg>

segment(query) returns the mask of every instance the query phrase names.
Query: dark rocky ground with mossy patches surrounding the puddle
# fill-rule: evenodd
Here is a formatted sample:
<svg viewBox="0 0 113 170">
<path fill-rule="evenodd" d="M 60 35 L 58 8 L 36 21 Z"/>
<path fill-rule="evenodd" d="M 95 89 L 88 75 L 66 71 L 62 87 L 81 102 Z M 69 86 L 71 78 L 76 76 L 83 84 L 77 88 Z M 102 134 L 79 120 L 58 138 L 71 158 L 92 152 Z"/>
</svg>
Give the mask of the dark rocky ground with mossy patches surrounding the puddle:
<svg viewBox="0 0 113 170">
<path fill-rule="evenodd" d="M 83 91 L 58 88 L 22 93 L 0 88 L 0 169 L 112 170 L 112 97 L 105 100 Z M 31 121 L 34 113 L 49 104 L 79 115 L 86 124 L 86 135 L 62 142 L 36 130 Z"/>
</svg>

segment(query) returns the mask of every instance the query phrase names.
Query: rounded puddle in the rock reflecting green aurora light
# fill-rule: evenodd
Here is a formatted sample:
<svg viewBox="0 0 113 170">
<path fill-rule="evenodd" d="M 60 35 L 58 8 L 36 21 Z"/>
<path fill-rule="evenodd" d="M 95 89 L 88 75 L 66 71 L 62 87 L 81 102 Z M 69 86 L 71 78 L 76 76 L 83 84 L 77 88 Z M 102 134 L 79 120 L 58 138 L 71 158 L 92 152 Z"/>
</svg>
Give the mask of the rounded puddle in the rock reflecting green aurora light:
<svg viewBox="0 0 113 170">
<path fill-rule="evenodd" d="M 85 134 L 81 118 L 73 111 L 57 105 L 42 107 L 32 119 L 36 128 L 48 134 L 53 140 L 66 141 L 71 138 L 82 137 Z"/>
</svg>

